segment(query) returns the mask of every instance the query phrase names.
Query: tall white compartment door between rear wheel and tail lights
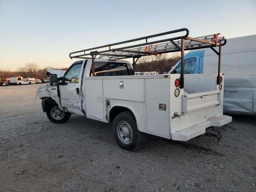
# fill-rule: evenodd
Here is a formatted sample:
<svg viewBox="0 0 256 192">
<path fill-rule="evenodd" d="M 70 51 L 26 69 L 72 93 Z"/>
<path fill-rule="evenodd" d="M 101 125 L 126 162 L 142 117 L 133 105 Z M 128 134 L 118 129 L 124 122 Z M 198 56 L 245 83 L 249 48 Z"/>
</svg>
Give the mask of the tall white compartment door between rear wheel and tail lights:
<svg viewBox="0 0 256 192">
<path fill-rule="evenodd" d="M 169 93 L 170 78 L 146 79 L 146 131 L 170 136 Z M 159 110 L 166 104 L 166 110 Z"/>
</svg>

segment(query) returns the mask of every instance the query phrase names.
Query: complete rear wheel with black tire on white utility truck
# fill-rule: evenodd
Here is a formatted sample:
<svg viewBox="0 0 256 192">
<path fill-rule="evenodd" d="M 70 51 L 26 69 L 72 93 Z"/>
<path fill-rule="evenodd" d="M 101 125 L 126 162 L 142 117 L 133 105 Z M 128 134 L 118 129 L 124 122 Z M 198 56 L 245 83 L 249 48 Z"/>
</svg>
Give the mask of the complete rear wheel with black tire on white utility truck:
<svg viewBox="0 0 256 192">
<path fill-rule="evenodd" d="M 137 127 L 131 112 L 121 112 L 113 123 L 113 133 L 118 145 L 128 151 L 138 150 L 145 142 L 145 134 Z"/>
</svg>

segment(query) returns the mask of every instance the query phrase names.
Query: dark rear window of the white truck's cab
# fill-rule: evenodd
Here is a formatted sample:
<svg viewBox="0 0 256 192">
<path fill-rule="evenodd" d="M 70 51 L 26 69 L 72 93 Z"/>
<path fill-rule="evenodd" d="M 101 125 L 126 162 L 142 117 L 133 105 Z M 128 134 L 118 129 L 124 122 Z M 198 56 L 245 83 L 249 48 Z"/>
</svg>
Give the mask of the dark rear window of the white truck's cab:
<svg viewBox="0 0 256 192">
<path fill-rule="evenodd" d="M 133 75 L 132 66 L 119 62 L 95 62 L 95 76 Z M 90 76 L 92 76 L 92 67 Z"/>
</svg>

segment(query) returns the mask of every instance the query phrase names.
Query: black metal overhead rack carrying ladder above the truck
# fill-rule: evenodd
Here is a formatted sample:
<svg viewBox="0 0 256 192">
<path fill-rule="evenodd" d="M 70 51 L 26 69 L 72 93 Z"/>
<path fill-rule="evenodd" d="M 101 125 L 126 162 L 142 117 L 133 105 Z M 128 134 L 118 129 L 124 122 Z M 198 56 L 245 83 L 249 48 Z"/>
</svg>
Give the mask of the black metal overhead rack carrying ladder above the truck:
<svg viewBox="0 0 256 192">
<path fill-rule="evenodd" d="M 176 34 L 180 32 L 186 32 L 183 36 L 177 36 L 172 38 L 164 38 L 162 40 L 156 40 L 148 42 L 148 39 L 165 36 L 168 34 Z M 109 58 L 109 59 L 126 59 L 133 58 L 133 68 L 135 74 L 135 64 L 138 59 L 142 56 L 157 55 L 171 52 L 181 52 L 181 72 L 180 72 L 180 88 L 184 88 L 184 51 L 211 48 L 218 55 L 218 76 L 217 84 L 220 84 L 220 67 L 221 67 L 221 47 L 226 44 L 226 39 L 224 37 L 219 37 L 218 34 L 202 36 L 198 38 L 188 37 L 189 30 L 186 28 L 168 31 L 164 33 L 159 33 L 155 35 L 145 36 L 141 38 L 136 38 L 132 40 L 122 41 L 118 43 L 98 46 L 94 48 L 84 49 L 80 51 L 71 52 L 69 57 L 72 58 L 82 58 L 82 59 L 92 59 L 92 74 L 95 74 L 94 59 L 96 56 L 99 58 Z M 145 40 L 146 42 L 121 46 L 119 48 L 111 48 L 112 46 L 117 46 L 121 44 L 127 44 L 131 42 L 138 42 Z M 99 50 L 108 47 L 107 50 Z M 219 47 L 219 51 L 216 51 L 214 47 Z M 135 60 L 136 59 L 136 60 Z"/>
</svg>

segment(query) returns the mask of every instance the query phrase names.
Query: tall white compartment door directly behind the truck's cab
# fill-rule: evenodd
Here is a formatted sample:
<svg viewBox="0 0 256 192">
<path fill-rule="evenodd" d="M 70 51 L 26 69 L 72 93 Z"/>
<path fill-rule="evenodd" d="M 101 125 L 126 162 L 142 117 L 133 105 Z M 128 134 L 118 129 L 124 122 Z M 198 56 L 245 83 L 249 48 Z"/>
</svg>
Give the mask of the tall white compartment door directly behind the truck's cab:
<svg viewBox="0 0 256 192">
<path fill-rule="evenodd" d="M 85 79 L 86 117 L 104 120 L 102 79 Z"/>
</svg>

